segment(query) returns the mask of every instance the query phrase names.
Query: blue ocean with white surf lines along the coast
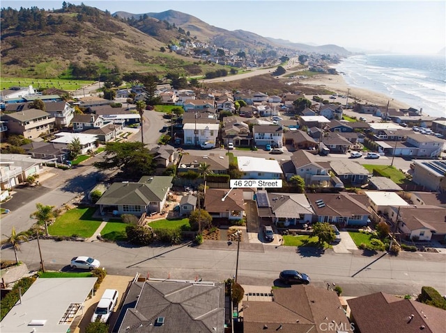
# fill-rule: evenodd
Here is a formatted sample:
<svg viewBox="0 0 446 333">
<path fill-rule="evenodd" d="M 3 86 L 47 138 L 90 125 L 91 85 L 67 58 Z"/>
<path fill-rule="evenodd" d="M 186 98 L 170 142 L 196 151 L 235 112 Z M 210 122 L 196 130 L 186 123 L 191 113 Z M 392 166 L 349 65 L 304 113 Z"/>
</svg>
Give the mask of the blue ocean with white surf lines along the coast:
<svg viewBox="0 0 446 333">
<path fill-rule="evenodd" d="M 346 83 L 387 95 L 420 110 L 446 117 L 445 56 L 370 54 L 334 66 Z"/>
</svg>

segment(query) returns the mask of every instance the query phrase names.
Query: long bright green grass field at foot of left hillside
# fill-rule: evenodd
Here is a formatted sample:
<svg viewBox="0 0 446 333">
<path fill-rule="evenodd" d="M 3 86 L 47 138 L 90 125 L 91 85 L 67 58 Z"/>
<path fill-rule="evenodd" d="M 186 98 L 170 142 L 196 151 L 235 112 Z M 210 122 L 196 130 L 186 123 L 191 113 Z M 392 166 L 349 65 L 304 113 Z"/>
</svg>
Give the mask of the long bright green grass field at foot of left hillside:
<svg viewBox="0 0 446 333">
<path fill-rule="evenodd" d="M 84 81 L 75 79 L 29 79 L 25 77 L 5 77 L 0 79 L 0 88 L 9 89 L 16 86 L 33 86 L 33 88 L 58 88 L 61 90 L 77 90 L 83 86 L 94 83 L 94 81 Z"/>
</svg>

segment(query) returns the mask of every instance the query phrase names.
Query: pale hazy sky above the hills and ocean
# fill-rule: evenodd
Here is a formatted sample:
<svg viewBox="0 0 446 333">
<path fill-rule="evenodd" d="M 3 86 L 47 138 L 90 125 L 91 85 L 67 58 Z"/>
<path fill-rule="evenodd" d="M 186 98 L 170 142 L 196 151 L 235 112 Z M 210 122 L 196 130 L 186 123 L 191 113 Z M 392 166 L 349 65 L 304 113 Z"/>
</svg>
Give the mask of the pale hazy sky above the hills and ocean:
<svg viewBox="0 0 446 333">
<path fill-rule="evenodd" d="M 227 30 L 306 44 L 337 44 L 406 54 L 436 54 L 446 44 L 446 1 L 68 1 L 111 13 L 178 10 Z M 57 1 L 1 1 L 1 7 L 61 8 Z"/>
</svg>

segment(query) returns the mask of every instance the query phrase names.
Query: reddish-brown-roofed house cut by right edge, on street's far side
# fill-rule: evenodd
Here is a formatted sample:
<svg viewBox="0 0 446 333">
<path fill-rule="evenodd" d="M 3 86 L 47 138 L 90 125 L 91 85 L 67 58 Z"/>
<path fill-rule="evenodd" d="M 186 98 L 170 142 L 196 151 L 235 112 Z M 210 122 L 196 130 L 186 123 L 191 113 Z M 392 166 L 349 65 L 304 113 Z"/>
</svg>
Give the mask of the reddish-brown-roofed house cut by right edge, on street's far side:
<svg viewBox="0 0 446 333">
<path fill-rule="evenodd" d="M 399 232 L 412 241 L 446 241 L 446 208 L 428 204 L 394 207 Z"/>
</svg>

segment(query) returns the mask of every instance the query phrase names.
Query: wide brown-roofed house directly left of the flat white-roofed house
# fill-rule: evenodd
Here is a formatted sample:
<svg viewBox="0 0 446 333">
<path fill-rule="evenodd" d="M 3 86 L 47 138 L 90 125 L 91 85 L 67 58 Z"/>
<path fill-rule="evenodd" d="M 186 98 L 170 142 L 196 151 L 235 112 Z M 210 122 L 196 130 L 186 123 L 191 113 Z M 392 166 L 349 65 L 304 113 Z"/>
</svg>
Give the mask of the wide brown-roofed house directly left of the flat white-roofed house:
<svg viewBox="0 0 446 333">
<path fill-rule="evenodd" d="M 214 174 L 227 174 L 229 169 L 229 157 L 225 154 L 210 153 L 207 156 L 183 154 L 178 163 L 177 172 L 199 172 L 201 163 L 209 165 L 208 172 Z"/>
</svg>

